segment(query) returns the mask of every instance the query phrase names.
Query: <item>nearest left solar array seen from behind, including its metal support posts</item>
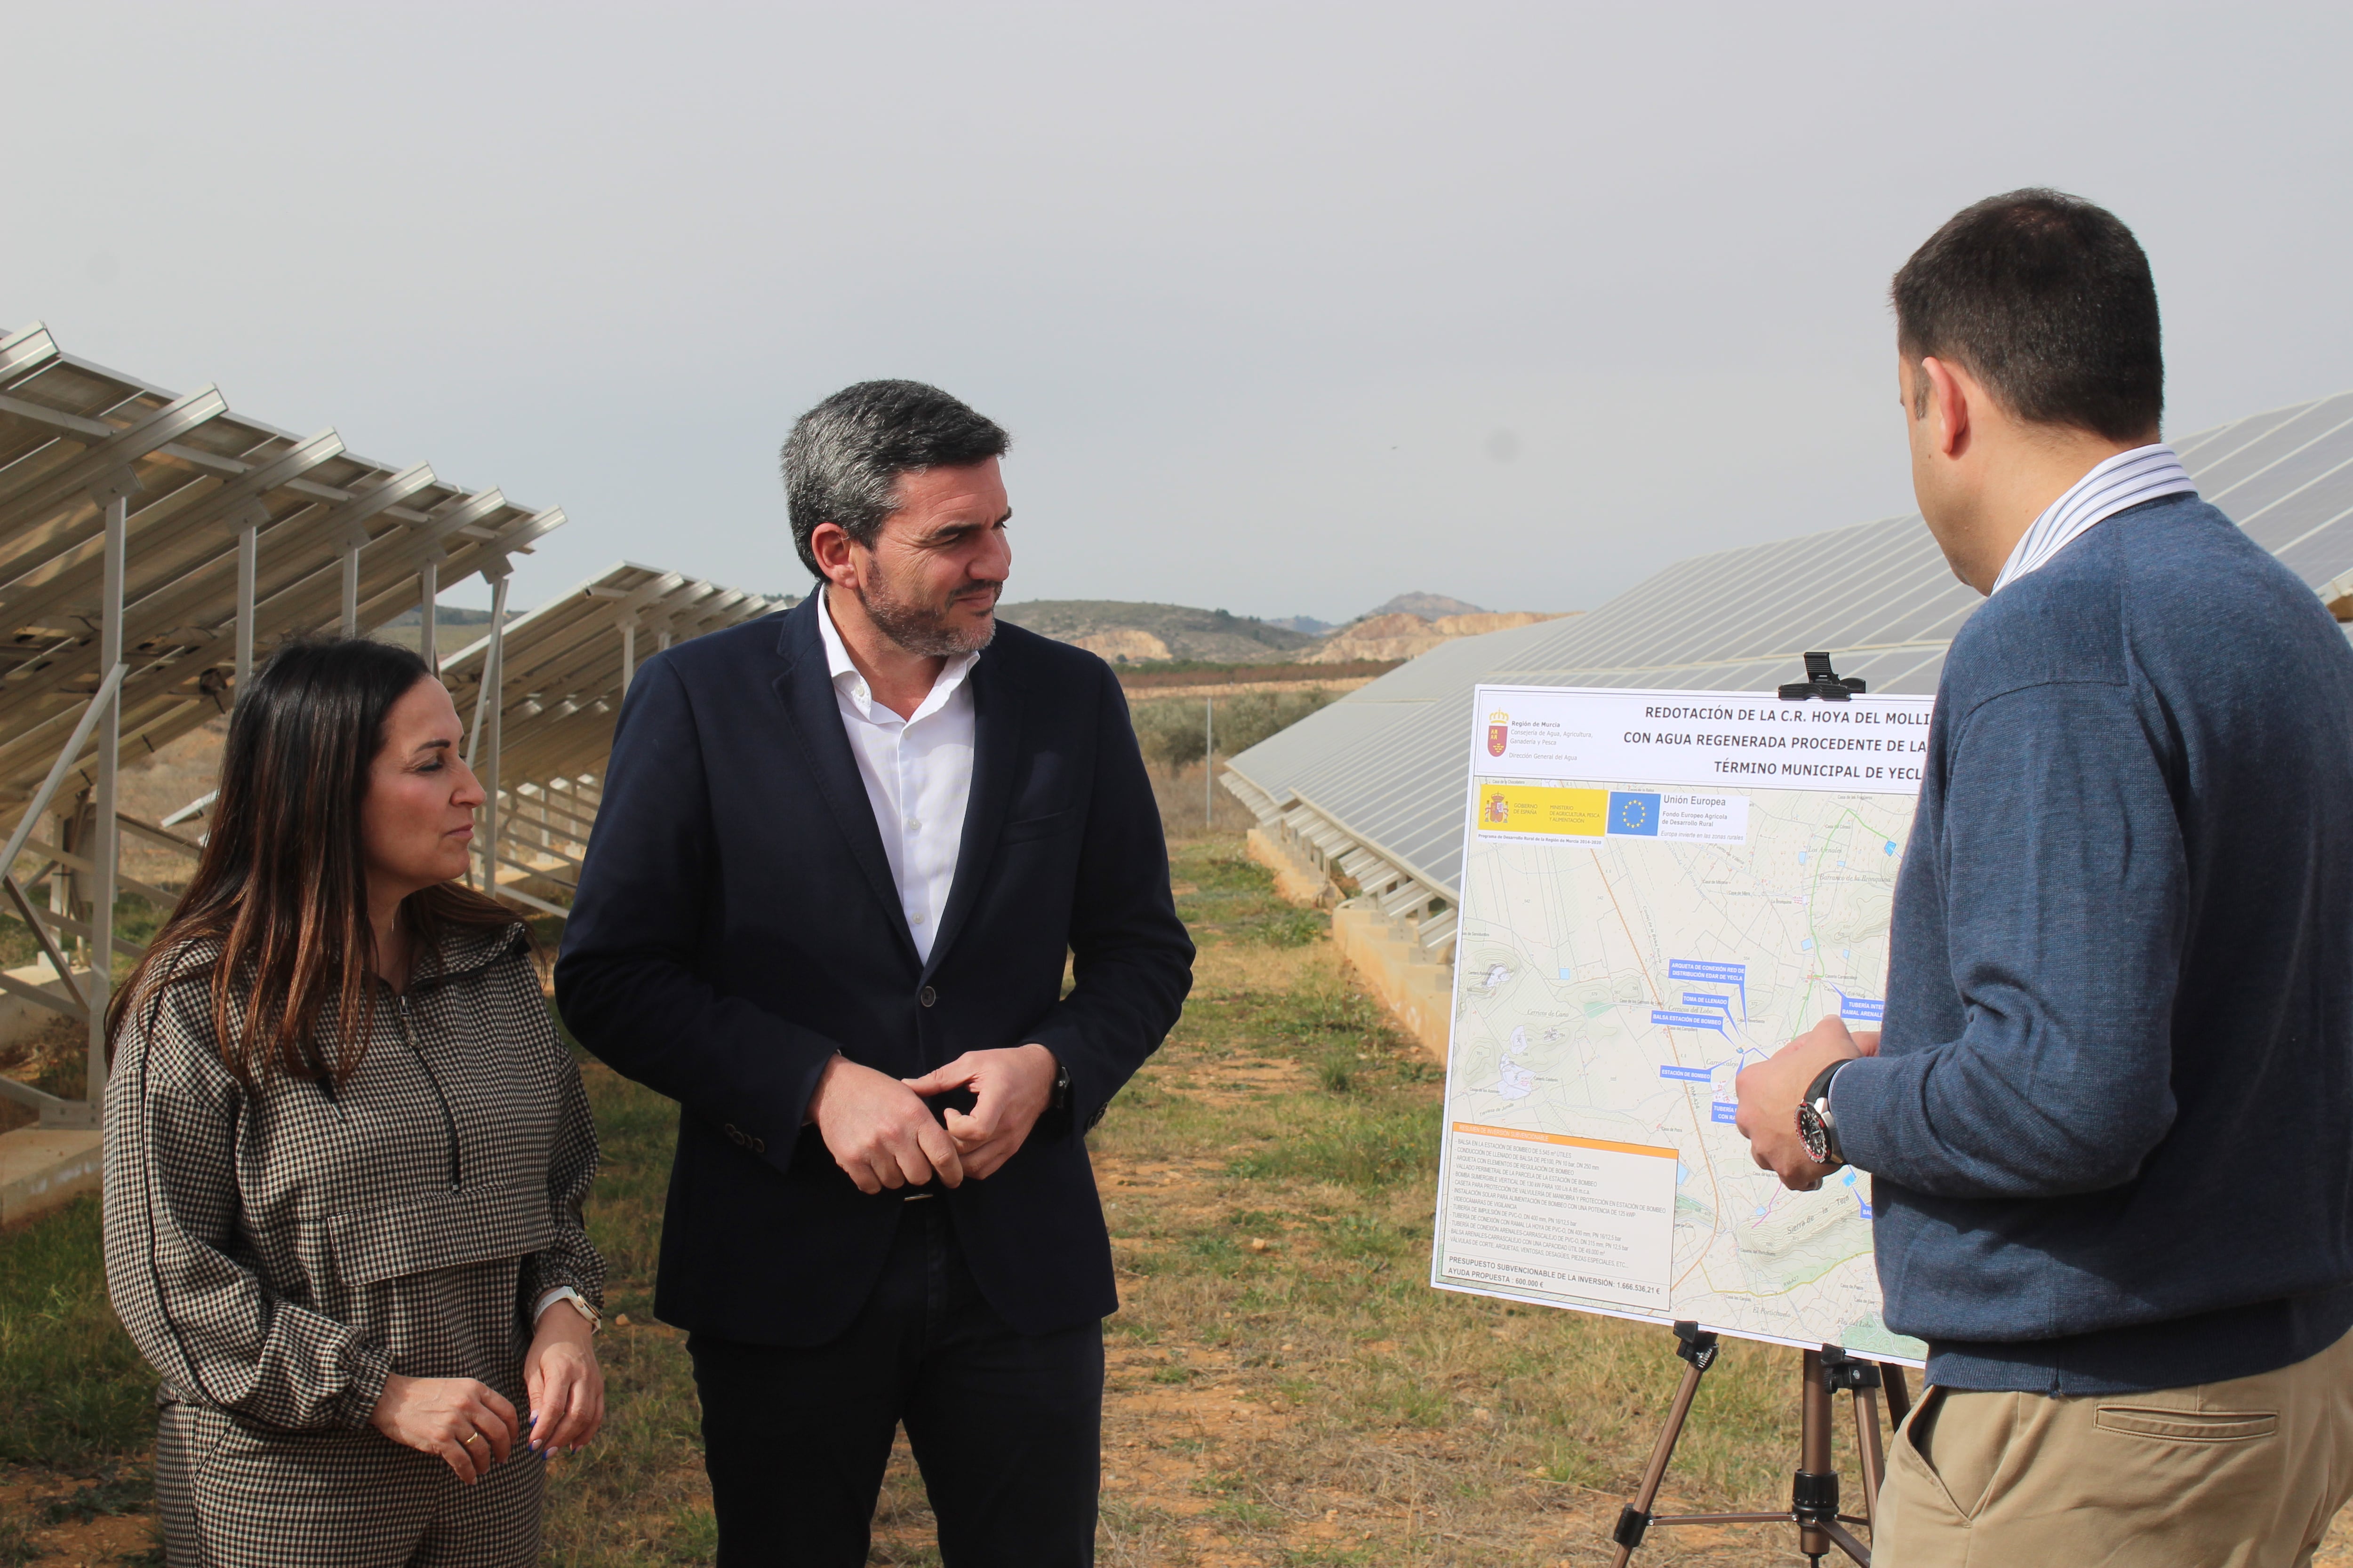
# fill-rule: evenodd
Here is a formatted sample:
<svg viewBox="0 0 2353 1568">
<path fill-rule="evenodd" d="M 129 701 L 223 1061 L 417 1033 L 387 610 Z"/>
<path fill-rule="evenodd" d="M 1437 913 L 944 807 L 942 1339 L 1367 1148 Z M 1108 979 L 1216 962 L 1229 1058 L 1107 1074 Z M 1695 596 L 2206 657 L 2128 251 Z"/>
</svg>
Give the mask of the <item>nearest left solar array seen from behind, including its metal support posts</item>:
<svg viewBox="0 0 2353 1568">
<path fill-rule="evenodd" d="M 440 583 L 506 576 L 560 510 L 466 491 L 428 465 L 393 468 L 334 430 L 292 435 L 228 409 L 219 388 L 174 395 L 64 353 L 45 327 L 0 334 L 0 792 L 21 802 L 0 891 L 71 997 L 0 976 L 0 990 L 80 1018 L 104 1088 L 101 1009 L 122 827 L 191 846 L 115 806 L 122 745 L 162 748 L 224 712 L 271 644 L 365 632 L 426 611 Z M 49 825 L 49 842 L 33 835 Z M 40 870 L 14 877 L 19 856 Z M 49 882 L 49 905 L 31 893 Z M 89 971 L 73 976 L 64 943 Z M 96 1100 L 33 1100 L 42 1121 L 94 1124 Z"/>
</svg>

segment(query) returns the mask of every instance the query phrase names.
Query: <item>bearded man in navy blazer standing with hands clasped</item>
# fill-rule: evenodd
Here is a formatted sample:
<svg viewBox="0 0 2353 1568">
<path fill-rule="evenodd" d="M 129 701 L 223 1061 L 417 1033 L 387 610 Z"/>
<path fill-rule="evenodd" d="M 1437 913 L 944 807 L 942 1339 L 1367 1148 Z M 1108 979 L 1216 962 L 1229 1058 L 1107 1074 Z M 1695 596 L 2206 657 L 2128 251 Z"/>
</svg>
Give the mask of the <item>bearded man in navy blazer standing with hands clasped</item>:
<svg viewBox="0 0 2353 1568">
<path fill-rule="evenodd" d="M 819 590 L 638 670 L 555 966 L 680 1103 L 654 1309 L 729 1568 L 864 1563 L 899 1422 L 951 1568 L 1094 1561 L 1085 1135 L 1193 945 L 1111 668 L 995 621 L 1005 447 L 908 381 L 795 423 Z"/>
</svg>

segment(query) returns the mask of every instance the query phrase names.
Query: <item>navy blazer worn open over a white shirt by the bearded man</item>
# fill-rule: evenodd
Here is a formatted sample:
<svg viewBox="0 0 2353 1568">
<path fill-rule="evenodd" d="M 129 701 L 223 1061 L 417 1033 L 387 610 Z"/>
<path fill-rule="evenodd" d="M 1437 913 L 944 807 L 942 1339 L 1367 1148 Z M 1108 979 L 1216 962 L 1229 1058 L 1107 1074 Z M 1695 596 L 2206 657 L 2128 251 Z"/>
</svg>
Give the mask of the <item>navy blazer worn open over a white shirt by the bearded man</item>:
<svg viewBox="0 0 2353 1568">
<path fill-rule="evenodd" d="M 1038 1041 L 1071 1074 L 1068 1112 L 944 1199 L 1016 1331 L 1106 1316 L 1085 1133 L 1193 983 L 1127 701 L 1094 654 L 998 625 L 967 677 L 972 799 L 922 961 L 816 614 L 812 595 L 638 670 L 555 964 L 579 1041 L 680 1103 L 654 1312 L 755 1345 L 835 1338 L 904 1199 L 859 1192 L 802 1126 L 826 1063 L 918 1077 Z"/>
</svg>

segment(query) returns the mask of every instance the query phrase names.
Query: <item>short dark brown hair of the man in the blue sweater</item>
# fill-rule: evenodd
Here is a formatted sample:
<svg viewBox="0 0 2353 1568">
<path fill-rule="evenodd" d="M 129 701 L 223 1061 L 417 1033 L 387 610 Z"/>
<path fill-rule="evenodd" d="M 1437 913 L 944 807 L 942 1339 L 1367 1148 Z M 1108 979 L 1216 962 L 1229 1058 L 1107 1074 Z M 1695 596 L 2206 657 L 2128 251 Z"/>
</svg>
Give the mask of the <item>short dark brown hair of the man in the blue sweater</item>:
<svg viewBox="0 0 2353 1568">
<path fill-rule="evenodd" d="M 2146 437 L 2165 414 L 2165 348 L 2148 256 L 2113 212 L 2059 190 L 1991 195 L 1953 214 L 1889 289 L 1906 364 L 1969 369 L 2009 414 Z M 1925 414 L 1925 381 L 1913 414 Z"/>
</svg>

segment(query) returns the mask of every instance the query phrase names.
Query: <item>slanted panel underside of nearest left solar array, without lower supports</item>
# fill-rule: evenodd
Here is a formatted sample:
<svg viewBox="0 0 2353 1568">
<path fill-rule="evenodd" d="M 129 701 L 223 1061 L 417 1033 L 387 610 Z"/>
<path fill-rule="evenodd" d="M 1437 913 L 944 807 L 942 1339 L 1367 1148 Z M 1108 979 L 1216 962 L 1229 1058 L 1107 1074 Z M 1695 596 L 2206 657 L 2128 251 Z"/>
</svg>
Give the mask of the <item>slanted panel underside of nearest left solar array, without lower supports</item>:
<svg viewBox="0 0 2353 1568">
<path fill-rule="evenodd" d="M 104 679 L 104 503 L 129 487 L 122 743 L 160 748 L 224 710 L 235 675 L 240 534 L 254 534 L 252 639 L 372 630 L 560 527 L 431 465 L 391 468 L 334 430 L 299 437 L 75 360 L 42 327 L 0 339 L 0 797 L 24 799 Z M 96 741 L 73 759 L 94 780 Z"/>
</svg>

